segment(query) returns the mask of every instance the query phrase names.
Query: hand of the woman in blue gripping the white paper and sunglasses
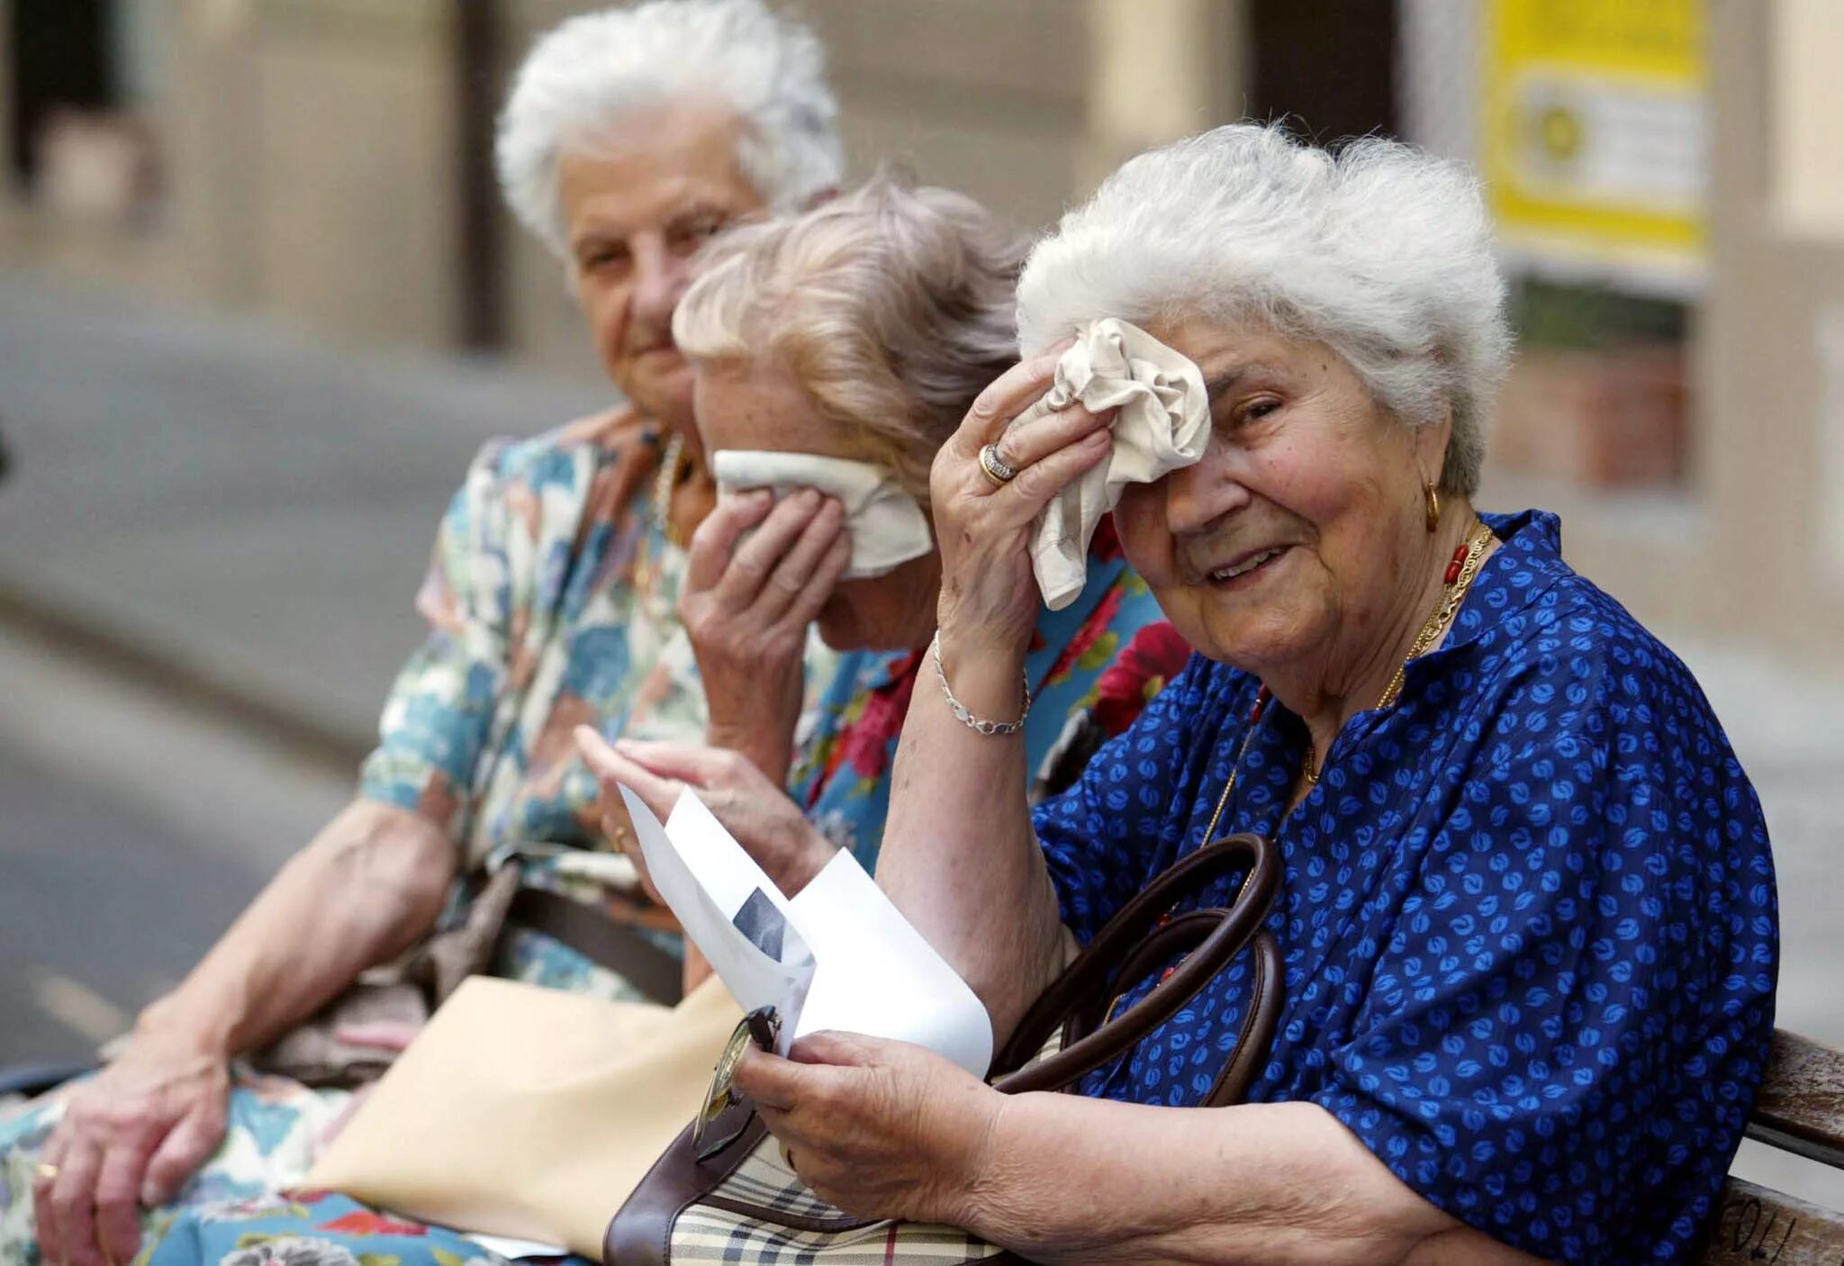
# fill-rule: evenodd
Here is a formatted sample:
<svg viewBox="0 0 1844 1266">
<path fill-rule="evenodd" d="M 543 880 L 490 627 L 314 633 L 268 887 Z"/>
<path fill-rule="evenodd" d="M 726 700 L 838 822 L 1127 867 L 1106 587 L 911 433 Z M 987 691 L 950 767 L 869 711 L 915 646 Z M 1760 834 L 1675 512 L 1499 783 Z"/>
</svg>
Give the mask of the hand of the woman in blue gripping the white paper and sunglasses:
<svg viewBox="0 0 1844 1266">
<path fill-rule="evenodd" d="M 751 1050 L 736 1085 L 813 1192 L 861 1218 L 968 1225 L 1005 1096 L 924 1047 L 813 1034 Z"/>
</svg>

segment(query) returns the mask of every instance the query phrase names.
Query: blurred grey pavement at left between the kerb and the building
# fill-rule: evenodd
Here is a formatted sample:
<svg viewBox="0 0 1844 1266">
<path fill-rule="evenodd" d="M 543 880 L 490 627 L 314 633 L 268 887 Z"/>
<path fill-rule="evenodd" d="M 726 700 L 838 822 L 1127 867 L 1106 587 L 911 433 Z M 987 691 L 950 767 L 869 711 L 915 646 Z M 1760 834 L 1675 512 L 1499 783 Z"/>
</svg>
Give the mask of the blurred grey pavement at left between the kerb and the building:
<svg viewBox="0 0 1844 1266">
<path fill-rule="evenodd" d="M 0 595 L 361 741 L 481 440 L 609 393 L 142 302 L 0 273 Z"/>
</svg>

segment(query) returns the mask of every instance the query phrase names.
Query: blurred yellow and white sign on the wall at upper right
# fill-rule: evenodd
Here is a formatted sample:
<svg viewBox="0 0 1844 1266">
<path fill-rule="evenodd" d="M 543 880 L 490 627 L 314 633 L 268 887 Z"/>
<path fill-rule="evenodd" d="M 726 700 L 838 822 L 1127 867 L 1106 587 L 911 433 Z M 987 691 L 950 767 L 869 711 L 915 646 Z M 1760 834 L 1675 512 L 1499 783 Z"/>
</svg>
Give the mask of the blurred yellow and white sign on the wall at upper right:
<svg viewBox="0 0 1844 1266">
<path fill-rule="evenodd" d="M 1689 293 L 1708 265 L 1704 0 L 1490 0 L 1484 166 L 1507 252 Z"/>
</svg>

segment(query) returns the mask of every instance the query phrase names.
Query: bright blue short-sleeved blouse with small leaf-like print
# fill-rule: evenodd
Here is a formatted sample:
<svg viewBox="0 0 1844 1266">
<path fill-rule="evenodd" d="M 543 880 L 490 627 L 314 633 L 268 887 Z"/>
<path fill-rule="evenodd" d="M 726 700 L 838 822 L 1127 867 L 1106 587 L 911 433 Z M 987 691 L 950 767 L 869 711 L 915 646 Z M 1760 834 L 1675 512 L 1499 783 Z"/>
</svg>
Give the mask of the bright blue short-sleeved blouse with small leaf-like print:
<svg viewBox="0 0 1844 1266">
<path fill-rule="evenodd" d="M 1243 757 L 1219 835 L 1278 837 L 1285 862 L 1285 1008 L 1250 1098 L 1320 1104 L 1529 1253 L 1684 1260 L 1774 1026 L 1767 826 L 1689 671 L 1562 562 L 1558 520 L 1486 522 L 1505 547 L 1448 643 L 1344 726 L 1293 815 L 1302 722 L 1269 708 Z M 1038 807 L 1079 940 L 1202 842 L 1258 686 L 1193 658 Z M 1195 1104 L 1247 971 L 1084 1093 Z"/>
</svg>

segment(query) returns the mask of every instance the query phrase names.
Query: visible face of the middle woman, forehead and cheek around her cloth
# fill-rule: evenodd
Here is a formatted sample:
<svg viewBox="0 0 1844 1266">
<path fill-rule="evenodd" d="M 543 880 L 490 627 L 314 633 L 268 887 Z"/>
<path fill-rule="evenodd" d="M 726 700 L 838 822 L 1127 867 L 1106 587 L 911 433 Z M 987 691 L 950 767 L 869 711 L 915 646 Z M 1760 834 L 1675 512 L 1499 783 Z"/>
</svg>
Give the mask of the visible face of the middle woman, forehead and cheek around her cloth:
<svg viewBox="0 0 1844 1266">
<path fill-rule="evenodd" d="M 693 381 L 706 453 L 743 448 L 865 461 L 857 437 L 821 416 L 798 383 L 778 369 L 695 361 Z M 815 623 L 833 651 L 909 651 L 935 627 L 939 588 L 940 555 L 928 553 L 880 577 L 841 580 Z"/>
</svg>

